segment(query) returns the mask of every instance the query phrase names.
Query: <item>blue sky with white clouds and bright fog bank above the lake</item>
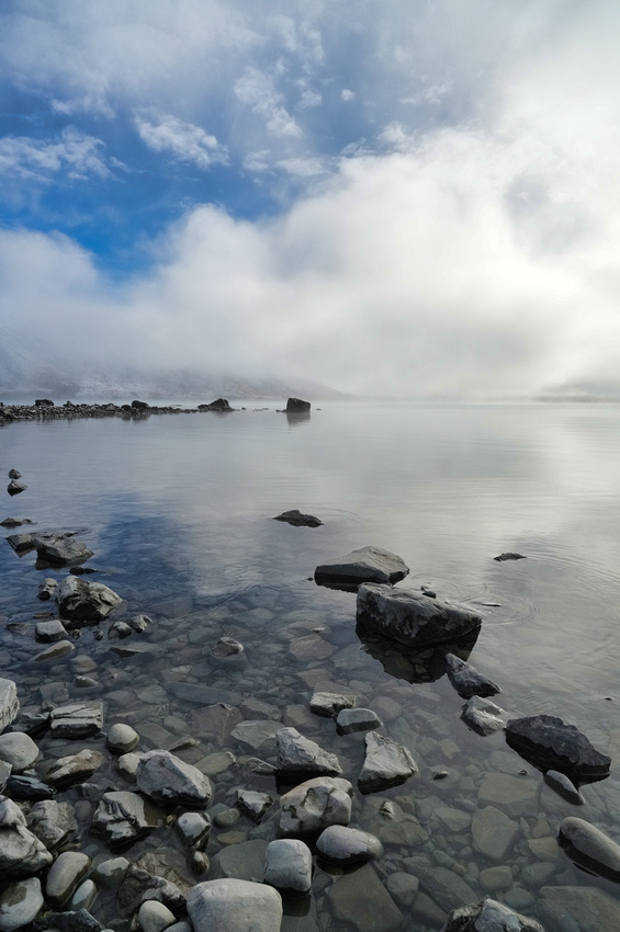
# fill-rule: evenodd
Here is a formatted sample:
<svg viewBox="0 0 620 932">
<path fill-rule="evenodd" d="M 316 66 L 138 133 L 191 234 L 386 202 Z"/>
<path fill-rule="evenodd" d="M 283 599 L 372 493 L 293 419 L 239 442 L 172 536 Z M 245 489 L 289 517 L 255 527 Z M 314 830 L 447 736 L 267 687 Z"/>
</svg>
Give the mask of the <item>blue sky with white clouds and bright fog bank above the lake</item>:
<svg viewBox="0 0 620 932">
<path fill-rule="evenodd" d="M 3 0 L 47 364 L 620 396 L 617 0 Z"/>
</svg>

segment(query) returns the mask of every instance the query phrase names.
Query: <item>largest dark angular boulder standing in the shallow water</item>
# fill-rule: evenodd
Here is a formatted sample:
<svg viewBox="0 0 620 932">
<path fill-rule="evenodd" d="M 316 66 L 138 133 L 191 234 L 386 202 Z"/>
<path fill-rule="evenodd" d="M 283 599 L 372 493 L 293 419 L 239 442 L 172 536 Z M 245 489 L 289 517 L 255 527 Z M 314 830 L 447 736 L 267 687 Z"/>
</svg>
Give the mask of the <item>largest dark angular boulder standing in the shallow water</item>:
<svg viewBox="0 0 620 932">
<path fill-rule="evenodd" d="M 360 586 L 357 613 L 362 626 L 408 647 L 453 641 L 482 625 L 469 609 L 375 582 Z"/>
</svg>

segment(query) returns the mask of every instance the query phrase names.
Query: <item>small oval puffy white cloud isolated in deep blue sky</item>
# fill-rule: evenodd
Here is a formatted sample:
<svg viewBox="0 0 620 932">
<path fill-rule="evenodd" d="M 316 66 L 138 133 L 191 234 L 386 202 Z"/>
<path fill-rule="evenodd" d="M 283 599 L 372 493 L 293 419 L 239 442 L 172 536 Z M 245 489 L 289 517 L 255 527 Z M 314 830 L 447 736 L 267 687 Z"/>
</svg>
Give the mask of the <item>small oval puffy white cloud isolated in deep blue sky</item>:
<svg viewBox="0 0 620 932">
<path fill-rule="evenodd" d="M 168 152 L 178 161 L 193 162 L 201 169 L 228 161 L 226 147 L 192 123 L 153 112 L 136 114 L 135 123 L 143 143 L 157 152 Z"/>
</svg>

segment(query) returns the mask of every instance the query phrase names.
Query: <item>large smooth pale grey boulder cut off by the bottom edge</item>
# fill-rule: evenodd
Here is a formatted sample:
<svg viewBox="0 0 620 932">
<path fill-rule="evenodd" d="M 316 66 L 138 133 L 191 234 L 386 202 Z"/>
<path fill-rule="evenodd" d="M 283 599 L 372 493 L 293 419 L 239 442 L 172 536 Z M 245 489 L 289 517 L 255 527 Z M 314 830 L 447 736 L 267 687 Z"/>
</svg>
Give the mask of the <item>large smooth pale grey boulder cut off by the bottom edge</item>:
<svg viewBox="0 0 620 932">
<path fill-rule="evenodd" d="M 205 880 L 188 894 L 194 932 L 280 932 L 282 897 L 250 880 Z"/>
</svg>

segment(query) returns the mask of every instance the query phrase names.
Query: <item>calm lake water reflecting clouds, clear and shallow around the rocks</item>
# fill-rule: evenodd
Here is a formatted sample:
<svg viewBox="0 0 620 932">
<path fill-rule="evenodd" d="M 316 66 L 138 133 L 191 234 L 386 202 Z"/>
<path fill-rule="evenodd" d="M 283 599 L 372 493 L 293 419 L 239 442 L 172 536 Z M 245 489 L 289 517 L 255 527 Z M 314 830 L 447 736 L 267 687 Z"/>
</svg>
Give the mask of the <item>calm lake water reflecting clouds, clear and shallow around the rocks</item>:
<svg viewBox="0 0 620 932">
<path fill-rule="evenodd" d="M 255 410 L 263 406 L 268 410 Z M 510 717 L 557 715 L 615 759 L 620 406 L 326 404 L 308 418 L 291 419 L 262 402 L 226 416 L 16 423 L 0 430 L 0 451 L 3 475 L 14 467 L 29 487 L 7 496 L 2 518 L 30 518 L 37 528 L 80 528 L 79 538 L 95 554 L 89 562 L 98 575 L 90 578 L 122 595 L 126 612 L 153 618 L 139 638 L 154 647 L 144 658 L 119 658 L 110 651 L 117 641 L 97 641 L 90 628 L 77 641 L 76 655 L 97 663 L 90 675 L 106 700 L 106 725 L 126 720 L 144 735 L 143 749 L 161 747 L 198 727 L 196 705 L 167 692 L 168 680 L 222 685 L 261 700 L 271 708 L 267 717 L 296 724 L 338 753 L 354 785 L 363 736 L 338 738 L 331 721 L 305 711 L 316 683 L 339 684 L 358 695 L 359 706 L 383 711 L 383 734 L 406 745 L 420 768 L 418 777 L 376 794 L 401 807 L 419 827 L 417 836 L 391 836 L 372 796 L 356 794 L 351 825 L 380 837 L 383 831 L 385 855 L 372 870 L 384 888 L 395 889 L 394 874 L 424 877 L 426 864 L 467 883 L 473 899 L 491 893 L 533 916 L 543 885 L 594 886 L 619 898 L 613 884 L 576 868 L 551 841 L 544 856 L 544 845 L 532 844 L 554 839 L 566 815 L 618 838 L 613 764 L 608 780 L 583 788 L 585 806 L 565 803 L 501 732 L 482 738 L 466 728 L 463 701 L 446 677 L 412 683 L 386 672 L 356 635 L 354 594 L 319 588 L 312 577 L 317 564 L 368 544 L 398 554 L 410 567 L 399 587 L 429 586 L 439 599 L 483 616 L 469 659 L 499 683 L 496 700 Z M 292 508 L 317 515 L 325 526 L 272 520 Z M 507 550 L 527 559 L 493 559 Z M 64 571 L 37 570 L 31 555 L 20 559 L 8 545 L 0 552 L 0 657 L 22 705 L 41 705 L 42 680 L 77 694 L 75 655 L 44 671 L 33 672 L 29 663 L 41 649 L 33 615 L 49 605 L 36 600 L 44 576 L 60 579 Z M 108 625 L 100 627 L 105 632 Z M 302 645 L 300 638 L 312 634 L 316 644 Z M 248 666 L 241 672 L 208 666 L 222 635 L 245 644 Z M 244 717 L 263 716 L 246 711 Z M 192 762 L 222 748 L 240 760 L 213 775 L 217 802 L 230 803 L 236 786 L 275 789 L 244 770 L 248 748 L 229 737 L 198 737 Z M 69 752 L 66 742 L 55 748 L 45 740 L 46 754 Z M 268 760 L 271 752 L 257 751 Z M 447 770 L 448 778 L 433 781 L 437 769 Z M 488 804 L 489 774 L 516 778 L 523 769 L 531 799 L 496 804 L 515 821 L 518 837 L 500 860 L 489 860 L 476 850 L 465 814 Z M 125 787 L 110 765 L 102 786 L 112 783 Z M 277 808 L 259 827 L 241 819 L 236 830 L 269 840 Z M 444 810 L 460 810 L 462 823 Z M 178 860 L 176 841 L 158 834 L 135 845 L 131 856 L 168 848 Z M 212 832 L 210 856 L 226 842 Z M 488 874 L 498 866 L 508 866 L 512 879 L 506 880 L 506 872 L 501 882 L 497 872 Z M 337 873 L 317 867 L 307 914 L 290 917 L 296 923 L 290 929 L 375 928 L 342 912 L 334 894 L 342 883 Z M 413 906 L 405 908 L 395 895 L 402 928 L 440 929 L 450 896 L 428 878 Z M 106 910 L 113 916 L 105 899 L 101 909 L 103 918 Z"/>
</svg>

